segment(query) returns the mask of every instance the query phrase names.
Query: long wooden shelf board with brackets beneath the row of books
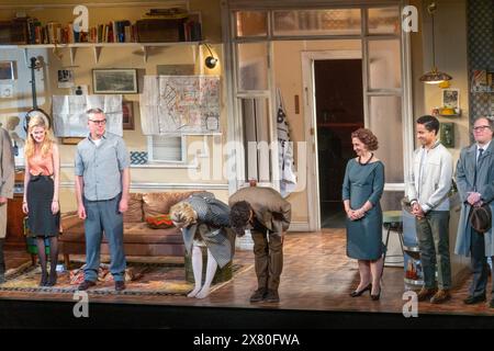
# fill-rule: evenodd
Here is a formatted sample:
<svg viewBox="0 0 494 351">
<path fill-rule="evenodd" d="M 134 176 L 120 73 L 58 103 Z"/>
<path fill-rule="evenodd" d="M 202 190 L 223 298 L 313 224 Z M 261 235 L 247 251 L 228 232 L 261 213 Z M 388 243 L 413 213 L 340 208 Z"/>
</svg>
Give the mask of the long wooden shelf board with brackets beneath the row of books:
<svg viewBox="0 0 494 351">
<path fill-rule="evenodd" d="M 69 49 L 70 53 L 70 65 L 74 66 L 76 60 L 76 54 L 78 48 L 92 48 L 94 63 L 98 64 L 100 60 L 101 52 L 103 47 L 115 48 L 115 47 L 137 47 L 143 50 L 144 63 L 147 63 L 149 56 L 149 48 L 151 47 L 164 47 L 164 46 L 188 46 L 192 45 L 199 47 L 205 42 L 169 42 L 169 43 L 74 43 L 74 44 L 20 44 L 20 45 L 0 45 L 0 48 L 18 48 L 24 50 L 24 60 L 26 65 L 29 64 L 29 50 L 38 48 L 52 48 L 52 49 Z M 194 50 L 195 55 L 195 50 Z"/>
</svg>

